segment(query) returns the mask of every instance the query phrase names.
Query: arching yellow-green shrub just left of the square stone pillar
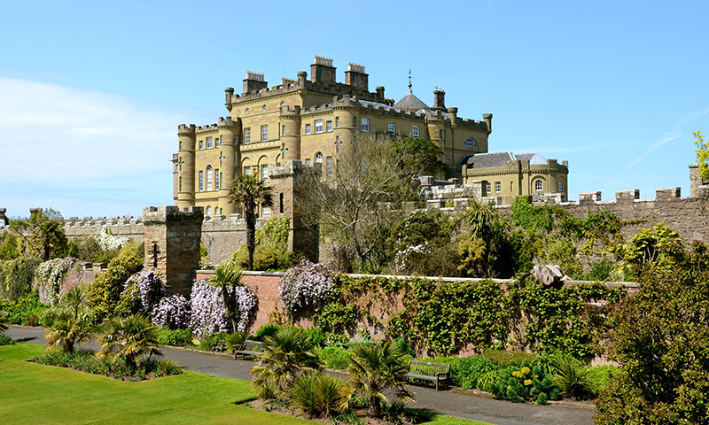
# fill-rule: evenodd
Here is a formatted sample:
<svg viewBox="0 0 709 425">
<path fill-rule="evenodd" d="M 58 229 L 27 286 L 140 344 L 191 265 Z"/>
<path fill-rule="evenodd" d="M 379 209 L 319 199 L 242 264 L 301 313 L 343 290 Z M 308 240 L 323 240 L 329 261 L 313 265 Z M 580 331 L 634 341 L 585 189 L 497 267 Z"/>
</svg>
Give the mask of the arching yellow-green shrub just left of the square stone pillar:
<svg viewBox="0 0 709 425">
<path fill-rule="evenodd" d="M 105 320 L 117 313 L 124 284 L 131 275 L 143 268 L 143 261 L 143 257 L 136 254 L 121 254 L 108 263 L 104 274 L 91 282 L 86 298 L 97 320 Z"/>
</svg>

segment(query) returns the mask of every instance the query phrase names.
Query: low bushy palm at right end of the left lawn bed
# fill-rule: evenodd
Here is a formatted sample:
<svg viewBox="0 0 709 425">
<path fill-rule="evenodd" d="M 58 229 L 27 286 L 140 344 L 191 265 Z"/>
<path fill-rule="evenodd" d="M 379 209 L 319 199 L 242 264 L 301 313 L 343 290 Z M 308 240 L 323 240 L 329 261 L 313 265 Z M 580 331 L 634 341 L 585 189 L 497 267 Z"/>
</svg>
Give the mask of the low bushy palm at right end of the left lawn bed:
<svg viewBox="0 0 709 425">
<path fill-rule="evenodd" d="M 106 326 L 101 337 L 99 359 L 113 355 L 113 359 L 125 358 L 129 367 L 136 367 L 136 359 L 145 354 L 161 356 L 158 349 L 158 327 L 141 315 L 114 318 Z"/>
</svg>

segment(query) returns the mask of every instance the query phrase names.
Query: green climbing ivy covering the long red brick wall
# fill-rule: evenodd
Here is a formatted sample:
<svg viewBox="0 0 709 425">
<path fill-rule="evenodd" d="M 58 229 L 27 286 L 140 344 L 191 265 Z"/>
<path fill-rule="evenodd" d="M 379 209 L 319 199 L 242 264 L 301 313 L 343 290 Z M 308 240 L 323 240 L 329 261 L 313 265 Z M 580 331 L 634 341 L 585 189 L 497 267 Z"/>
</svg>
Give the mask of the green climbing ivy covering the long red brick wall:
<svg viewBox="0 0 709 425">
<path fill-rule="evenodd" d="M 354 336 L 360 323 L 406 337 L 431 355 L 464 347 L 525 349 L 578 356 L 602 352 L 600 332 L 624 290 L 601 284 L 542 289 L 533 282 L 443 282 L 412 277 L 339 275 L 331 302 L 315 320 L 332 340 Z M 372 308 L 376 306 L 378 310 Z"/>
</svg>

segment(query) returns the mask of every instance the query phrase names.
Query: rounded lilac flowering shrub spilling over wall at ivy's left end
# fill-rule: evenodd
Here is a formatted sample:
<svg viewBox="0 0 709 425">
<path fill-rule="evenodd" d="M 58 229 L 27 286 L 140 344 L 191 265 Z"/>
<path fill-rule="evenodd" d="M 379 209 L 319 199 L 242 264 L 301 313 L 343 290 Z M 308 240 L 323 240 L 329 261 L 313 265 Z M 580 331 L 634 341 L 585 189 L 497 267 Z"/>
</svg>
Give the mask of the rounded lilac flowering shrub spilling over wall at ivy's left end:
<svg viewBox="0 0 709 425">
<path fill-rule="evenodd" d="M 278 283 L 285 307 L 294 316 L 300 310 L 316 311 L 330 299 L 332 271 L 323 264 L 303 260 L 285 272 Z"/>
</svg>

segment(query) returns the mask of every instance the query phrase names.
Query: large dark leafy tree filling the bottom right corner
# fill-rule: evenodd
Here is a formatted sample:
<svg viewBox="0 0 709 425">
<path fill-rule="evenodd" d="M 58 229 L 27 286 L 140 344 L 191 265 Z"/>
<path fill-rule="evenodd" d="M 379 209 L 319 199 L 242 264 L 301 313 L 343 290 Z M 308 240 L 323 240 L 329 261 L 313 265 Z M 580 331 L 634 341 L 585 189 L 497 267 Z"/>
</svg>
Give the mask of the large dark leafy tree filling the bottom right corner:
<svg viewBox="0 0 709 425">
<path fill-rule="evenodd" d="M 596 423 L 709 423 L 709 254 L 695 243 L 673 267 L 650 263 L 640 292 L 611 316 L 619 362 Z"/>
</svg>

